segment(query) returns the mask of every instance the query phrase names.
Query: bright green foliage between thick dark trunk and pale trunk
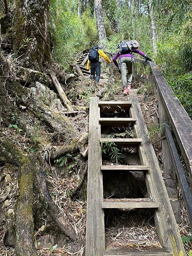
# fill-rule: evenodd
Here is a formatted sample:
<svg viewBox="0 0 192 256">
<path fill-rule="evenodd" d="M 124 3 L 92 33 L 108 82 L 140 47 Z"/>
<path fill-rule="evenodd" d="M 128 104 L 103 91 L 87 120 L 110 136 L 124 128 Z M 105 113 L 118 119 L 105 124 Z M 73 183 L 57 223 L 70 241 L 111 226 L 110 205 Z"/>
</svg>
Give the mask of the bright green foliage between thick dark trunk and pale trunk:
<svg viewBox="0 0 192 256">
<path fill-rule="evenodd" d="M 77 14 L 78 1 L 51 0 L 49 26 L 54 40 L 54 55 L 66 65 L 75 53 L 97 41 L 96 22 L 87 10 L 82 18 Z"/>
</svg>

